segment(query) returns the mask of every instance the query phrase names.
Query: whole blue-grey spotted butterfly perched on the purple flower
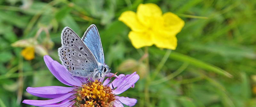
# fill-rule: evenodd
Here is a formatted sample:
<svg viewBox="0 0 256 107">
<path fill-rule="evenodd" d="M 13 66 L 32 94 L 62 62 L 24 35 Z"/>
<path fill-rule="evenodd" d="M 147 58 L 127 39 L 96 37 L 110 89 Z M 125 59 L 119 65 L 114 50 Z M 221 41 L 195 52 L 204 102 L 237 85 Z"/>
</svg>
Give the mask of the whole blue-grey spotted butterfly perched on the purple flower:
<svg viewBox="0 0 256 107">
<path fill-rule="evenodd" d="M 61 64 L 73 76 L 100 79 L 110 73 L 104 63 L 100 35 L 95 25 L 90 25 L 82 39 L 69 27 L 61 32 L 61 47 L 58 49 Z"/>
</svg>

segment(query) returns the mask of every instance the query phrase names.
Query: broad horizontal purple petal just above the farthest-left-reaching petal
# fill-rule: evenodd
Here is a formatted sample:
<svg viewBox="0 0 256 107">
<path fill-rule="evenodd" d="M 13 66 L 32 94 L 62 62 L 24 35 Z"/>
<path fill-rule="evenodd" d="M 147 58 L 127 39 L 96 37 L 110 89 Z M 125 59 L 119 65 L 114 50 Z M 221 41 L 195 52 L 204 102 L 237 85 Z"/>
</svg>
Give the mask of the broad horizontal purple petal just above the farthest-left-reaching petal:
<svg viewBox="0 0 256 107">
<path fill-rule="evenodd" d="M 47 87 L 28 87 L 28 93 L 42 98 L 57 98 L 73 91 L 73 87 L 47 86 Z"/>
</svg>

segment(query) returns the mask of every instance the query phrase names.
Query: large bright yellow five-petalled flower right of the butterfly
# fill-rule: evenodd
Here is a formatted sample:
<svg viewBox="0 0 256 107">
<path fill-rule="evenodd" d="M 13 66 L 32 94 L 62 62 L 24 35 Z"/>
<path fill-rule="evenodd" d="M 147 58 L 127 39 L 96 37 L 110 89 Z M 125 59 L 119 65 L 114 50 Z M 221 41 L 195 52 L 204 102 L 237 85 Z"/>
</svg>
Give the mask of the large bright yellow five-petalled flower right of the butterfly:
<svg viewBox="0 0 256 107">
<path fill-rule="evenodd" d="M 118 18 L 131 28 L 128 37 L 135 48 L 152 46 L 175 50 L 177 47 L 176 34 L 184 26 L 184 21 L 177 15 L 166 12 L 152 3 L 140 4 L 137 13 L 125 11 Z"/>
</svg>

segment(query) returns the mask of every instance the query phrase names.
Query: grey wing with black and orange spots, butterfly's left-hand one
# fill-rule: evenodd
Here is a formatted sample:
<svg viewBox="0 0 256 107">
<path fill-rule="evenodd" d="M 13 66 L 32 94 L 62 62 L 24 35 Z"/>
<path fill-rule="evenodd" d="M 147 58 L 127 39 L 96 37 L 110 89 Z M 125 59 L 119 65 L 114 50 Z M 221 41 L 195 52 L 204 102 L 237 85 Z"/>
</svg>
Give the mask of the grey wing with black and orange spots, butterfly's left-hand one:
<svg viewBox="0 0 256 107">
<path fill-rule="evenodd" d="M 72 74 L 88 77 L 98 68 L 98 62 L 92 52 L 69 27 L 62 30 L 61 44 L 58 49 L 60 61 Z"/>
</svg>

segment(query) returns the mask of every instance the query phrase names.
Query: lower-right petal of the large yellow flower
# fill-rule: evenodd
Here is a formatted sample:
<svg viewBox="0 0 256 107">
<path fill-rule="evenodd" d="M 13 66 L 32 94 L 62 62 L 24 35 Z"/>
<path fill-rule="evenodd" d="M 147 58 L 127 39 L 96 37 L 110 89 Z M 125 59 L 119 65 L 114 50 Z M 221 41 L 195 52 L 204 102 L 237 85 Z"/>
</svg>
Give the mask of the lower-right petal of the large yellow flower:
<svg viewBox="0 0 256 107">
<path fill-rule="evenodd" d="M 152 35 L 152 40 L 154 41 L 156 47 L 159 48 L 175 50 L 177 47 L 177 38 L 175 37 L 175 35 L 166 37 L 162 33 L 154 32 L 154 35 Z"/>
</svg>

